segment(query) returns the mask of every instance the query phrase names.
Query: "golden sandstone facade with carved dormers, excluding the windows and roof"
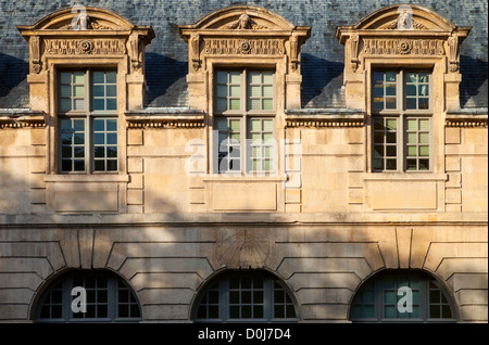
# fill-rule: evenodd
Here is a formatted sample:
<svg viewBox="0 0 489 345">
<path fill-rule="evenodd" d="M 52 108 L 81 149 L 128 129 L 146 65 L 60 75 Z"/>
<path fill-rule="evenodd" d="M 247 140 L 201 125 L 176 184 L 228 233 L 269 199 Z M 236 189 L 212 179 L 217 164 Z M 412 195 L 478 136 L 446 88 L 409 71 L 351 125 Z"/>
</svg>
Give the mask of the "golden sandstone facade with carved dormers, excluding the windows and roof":
<svg viewBox="0 0 489 345">
<path fill-rule="evenodd" d="M 474 66 L 461 52 L 480 49 L 466 48 L 475 28 L 436 5 L 413 4 L 410 28 L 398 23 L 398 5 L 326 28 L 308 20 L 309 8 L 285 18 L 277 5 L 212 4 L 163 36 L 185 54 L 185 87 L 168 88 L 185 89 L 176 97 L 185 104 L 147 102 L 159 87 L 148 67 L 160 44 L 149 17 L 87 8 L 87 26 L 74 30 L 71 9 L 52 9 L 17 26 L 28 106 L 0 110 L 0 320 L 36 321 L 59 277 L 106 269 L 134 290 L 142 321 L 191 322 L 208 283 L 240 269 L 279 279 L 300 322 L 351 321 L 355 293 L 386 270 L 428 273 L 457 322 L 487 322 L 488 112 L 478 93 L 462 97 Z M 308 77 L 318 78 L 308 65 L 315 30 L 343 54 L 343 86 L 323 106 L 324 94 L 304 104 Z M 117 71 L 117 171 L 60 174 L 57 71 L 108 65 Z M 275 73 L 273 174 L 215 168 L 222 66 Z M 378 66 L 432 71 L 428 171 L 373 171 L 368 80 Z"/>
</svg>

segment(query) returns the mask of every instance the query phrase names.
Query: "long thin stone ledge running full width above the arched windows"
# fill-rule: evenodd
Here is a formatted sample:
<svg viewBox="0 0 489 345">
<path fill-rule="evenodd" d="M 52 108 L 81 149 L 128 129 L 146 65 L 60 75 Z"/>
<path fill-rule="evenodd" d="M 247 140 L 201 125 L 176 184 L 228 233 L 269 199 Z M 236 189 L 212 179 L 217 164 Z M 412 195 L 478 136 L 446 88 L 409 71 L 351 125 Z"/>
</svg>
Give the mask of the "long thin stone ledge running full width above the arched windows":
<svg viewBox="0 0 489 345">
<path fill-rule="evenodd" d="M 368 212 L 368 213 L 202 213 L 202 214 L 50 214 L 0 215 L 0 229 L 16 227 L 106 227 L 147 226 L 214 226 L 216 223 L 258 225 L 263 227 L 287 226 L 484 226 L 488 213 L 435 213 L 435 212 Z"/>
</svg>

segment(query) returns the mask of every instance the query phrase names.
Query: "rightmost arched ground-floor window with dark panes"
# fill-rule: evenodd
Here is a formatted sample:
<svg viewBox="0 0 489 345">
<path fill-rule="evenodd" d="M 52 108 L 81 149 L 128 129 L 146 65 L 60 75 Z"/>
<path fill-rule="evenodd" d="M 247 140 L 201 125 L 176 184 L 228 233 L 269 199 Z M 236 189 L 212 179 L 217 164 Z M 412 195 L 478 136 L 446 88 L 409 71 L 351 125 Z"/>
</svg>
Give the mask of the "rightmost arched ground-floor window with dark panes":
<svg viewBox="0 0 489 345">
<path fill-rule="evenodd" d="M 456 322 L 456 310 L 444 288 L 419 270 L 384 270 L 356 291 L 352 322 Z"/>
</svg>

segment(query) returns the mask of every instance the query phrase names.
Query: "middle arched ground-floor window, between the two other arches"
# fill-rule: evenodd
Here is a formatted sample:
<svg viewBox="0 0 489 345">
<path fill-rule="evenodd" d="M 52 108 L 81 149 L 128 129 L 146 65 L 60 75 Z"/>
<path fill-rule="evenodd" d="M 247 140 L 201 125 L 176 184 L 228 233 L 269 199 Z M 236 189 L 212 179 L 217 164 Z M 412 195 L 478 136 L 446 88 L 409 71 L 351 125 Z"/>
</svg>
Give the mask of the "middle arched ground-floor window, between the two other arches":
<svg viewBox="0 0 489 345">
<path fill-rule="evenodd" d="M 287 285 L 264 270 L 230 270 L 210 280 L 196 298 L 196 322 L 297 322 Z"/>
</svg>

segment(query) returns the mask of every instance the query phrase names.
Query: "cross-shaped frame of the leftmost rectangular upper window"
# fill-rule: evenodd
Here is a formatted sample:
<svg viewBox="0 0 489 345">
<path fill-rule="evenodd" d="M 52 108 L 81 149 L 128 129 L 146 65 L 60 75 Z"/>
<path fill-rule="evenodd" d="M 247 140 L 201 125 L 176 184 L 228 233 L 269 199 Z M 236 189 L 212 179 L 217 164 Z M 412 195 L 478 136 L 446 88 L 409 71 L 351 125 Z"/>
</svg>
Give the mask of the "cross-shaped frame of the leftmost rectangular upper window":
<svg viewBox="0 0 489 345">
<path fill-rule="evenodd" d="M 64 112 L 61 110 L 61 74 L 62 73 L 71 73 L 72 74 L 72 81 L 73 81 L 73 74 L 77 73 L 77 72 L 83 72 L 84 73 L 84 88 L 85 88 L 85 110 L 84 111 L 67 111 Z M 115 99 L 115 105 L 116 108 L 115 110 L 104 110 L 104 111 L 99 111 L 99 110 L 93 110 L 93 103 L 95 103 L 95 92 L 93 92 L 93 88 L 96 86 L 96 84 L 93 82 L 93 73 L 96 72 L 103 72 L 103 73 L 115 73 L 115 82 L 110 82 L 109 85 L 114 85 L 115 86 L 115 97 L 111 97 L 111 99 Z M 58 130 L 58 135 L 57 135 L 57 153 L 58 153 L 58 158 L 57 158 L 57 173 L 61 174 L 61 175 L 116 175 L 120 174 L 121 171 L 121 162 L 120 162 L 120 157 L 121 157 L 121 148 L 120 148 L 120 140 L 121 140 L 121 135 L 120 135 L 120 119 L 118 119 L 118 103 L 120 103 L 120 97 L 121 97 L 121 91 L 120 91 L 120 86 L 117 82 L 118 79 L 118 72 L 117 72 L 117 67 L 115 66 L 93 66 L 93 67 L 59 67 L 55 71 L 55 108 L 57 108 L 57 127 L 59 128 Z M 100 84 L 98 84 L 100 85 Z M 106 78 L 104 78 L 104 84 L 103 86 L 106 86 Z M 74 98 L 73 95 L 71 97 L 72 99 Z M 106 94 L 103 97 L 105 102 L 106 102 Z M 73 106 L 73 101 L 72 101 L 72 106 Z M 63 155 L 62 155 L 62 122 L 63 119 L 83 119 L 85 122 L 85 144 L 84 144 L 84 150 L 85 150 L 85 157 L 84 157 L 84 164 L 85 164 L 85 169 L 84 170 L 63 170 L 62 167 L 62 161 L 63 161 Z M 113 159 L 110 161 L 115 161 L 116 162 L 116 169 L 115 170 L 108 170 L 106 169 L 106 161 L 108 158 L 110 158 L 106 153 L 104 156 L 104 170 L 96 170 L 95 169 L 95 162 L 99 161 L 96 159 L 96 144 L 95 144 L 95 124 L 93 122 L 96 119 L 103 119 L 106 124 L 108 119 L 115 119 L 116 120 L 116 143 L 115 144 L 108 144 L 106 142 L 103 144 L 104 148 L 106 148 L 108 145 L 110 146 L 116 146 L 117 148 L 117 154 L 115 157 L 113 157 Z M 108 130 L 105 128 L 104 133 L 106 135 Z M 104 136 L 104 140 L 105 140 L 106 136 Z M 71 159 L 73 161 L 74 157 L 72 157 Z M 80 159 L 82 161 L 82 159 Z M 72 163 L 73 165 L 73 163 Z"/>
</svg>

